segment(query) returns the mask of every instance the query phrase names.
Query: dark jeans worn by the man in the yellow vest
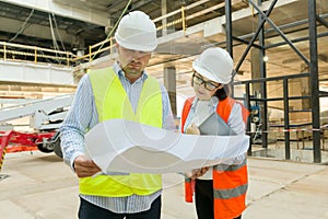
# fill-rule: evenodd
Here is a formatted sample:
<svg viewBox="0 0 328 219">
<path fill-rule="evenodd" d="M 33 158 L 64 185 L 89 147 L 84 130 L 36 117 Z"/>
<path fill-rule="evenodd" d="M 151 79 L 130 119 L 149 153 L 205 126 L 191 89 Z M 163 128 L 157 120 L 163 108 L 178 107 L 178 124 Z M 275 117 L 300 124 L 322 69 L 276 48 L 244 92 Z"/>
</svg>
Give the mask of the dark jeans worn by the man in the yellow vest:
<svg viewBox="0 0 328 219">
<path fill-rule="evenodd" d="M 137 214 L 116 214 L 80 198 L 79 219 L 160 219 L 162 200 L 157 197 L 151 208 Z"/>
</svg>

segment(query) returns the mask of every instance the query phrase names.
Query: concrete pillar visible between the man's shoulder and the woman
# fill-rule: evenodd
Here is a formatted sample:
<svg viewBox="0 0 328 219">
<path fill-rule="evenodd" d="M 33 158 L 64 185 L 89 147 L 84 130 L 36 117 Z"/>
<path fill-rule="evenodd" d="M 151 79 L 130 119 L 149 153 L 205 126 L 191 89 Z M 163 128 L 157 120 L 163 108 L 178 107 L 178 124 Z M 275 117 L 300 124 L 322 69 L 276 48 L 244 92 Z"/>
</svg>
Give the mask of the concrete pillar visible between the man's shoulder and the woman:
<svg viewBox="0 0 328 219">
<path fill-rule="evenodd" d="M 164 85 L 168 92 L 172 113 L 176 115 L 176 69 L 174 66 L 164 67 Z"/>
</svg>

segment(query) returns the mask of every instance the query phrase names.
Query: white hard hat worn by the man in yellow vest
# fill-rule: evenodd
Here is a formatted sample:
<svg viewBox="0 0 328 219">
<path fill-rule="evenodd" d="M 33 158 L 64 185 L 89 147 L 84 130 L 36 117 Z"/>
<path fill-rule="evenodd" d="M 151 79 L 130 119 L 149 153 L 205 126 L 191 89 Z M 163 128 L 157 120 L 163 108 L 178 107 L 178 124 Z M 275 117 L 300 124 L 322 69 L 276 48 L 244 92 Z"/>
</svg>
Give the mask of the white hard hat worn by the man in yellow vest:
<svg viewBox="0 0 328 219">
<path fill-rule="evenodd" d="M 157 47 L 156 26 L 142 11 L 133 11 L 120 20 L 115 39 L 127 49 L 153 51 Z"/>
</svg>

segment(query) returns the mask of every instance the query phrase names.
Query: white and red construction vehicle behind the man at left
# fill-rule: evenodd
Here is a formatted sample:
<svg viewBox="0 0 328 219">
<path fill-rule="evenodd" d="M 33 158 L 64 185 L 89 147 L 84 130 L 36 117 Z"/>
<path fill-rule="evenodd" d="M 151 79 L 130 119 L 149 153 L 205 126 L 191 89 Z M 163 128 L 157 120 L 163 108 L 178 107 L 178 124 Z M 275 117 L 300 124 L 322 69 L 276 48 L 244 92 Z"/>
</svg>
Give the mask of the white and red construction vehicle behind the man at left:
<svg viewBox="0 0 328 219">
<path fill-rule="evenodd" d="M 73 95 L 63 95 L 0 108 L 0 123 L 30 116 L 30 127 L 34 130 L 33 132 L 0 131 L 0 152 L 2 151 L 0 155 L 4 157 L 7 147 L 11 142 L 21 148 L 36 147 L 46 153 L 54 151 L 62 158 L 59 127 L 72 100 Z"/>
</svg>

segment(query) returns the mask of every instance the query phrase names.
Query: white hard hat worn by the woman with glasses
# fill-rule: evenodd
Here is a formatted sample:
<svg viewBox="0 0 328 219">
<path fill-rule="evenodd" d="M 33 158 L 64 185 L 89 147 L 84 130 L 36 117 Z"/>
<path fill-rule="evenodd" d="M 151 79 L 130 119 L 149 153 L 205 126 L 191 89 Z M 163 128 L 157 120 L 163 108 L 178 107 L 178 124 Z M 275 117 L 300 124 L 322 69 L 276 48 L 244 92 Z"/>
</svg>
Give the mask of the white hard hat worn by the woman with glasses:
<svg viewBox="0 0 328 219">
<path fill-rule="evenodd" d="M 196 58 L 192 68 L 211 81 L 227 84 L 232 78 L 234 61 L 226 50 L 219 47 L 208 48 Z"/>
</svg>

